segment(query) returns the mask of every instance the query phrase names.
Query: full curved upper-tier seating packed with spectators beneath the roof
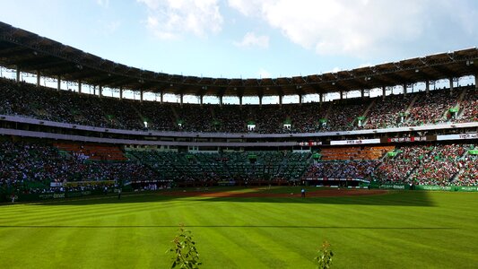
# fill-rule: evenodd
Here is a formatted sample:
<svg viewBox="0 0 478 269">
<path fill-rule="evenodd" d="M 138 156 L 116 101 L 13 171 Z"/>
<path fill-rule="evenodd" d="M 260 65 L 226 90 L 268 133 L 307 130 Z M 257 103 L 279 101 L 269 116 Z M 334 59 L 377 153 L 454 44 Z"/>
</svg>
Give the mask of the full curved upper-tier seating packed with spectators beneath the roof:
<svg viewBox="0 0 478 269">
<path fill-rule="evenodd" d="M 455 109 L 453 112 L 450 109 Z M 0 79 L 0 114 L 118 129 L 188 132 L 310 133 L 420 126 L 478 121 L 478 93 L 460 87 L 390 95 L 385 100 L 280 105 L 204 105 L 115 98 L 55 91 L 28 83 Z M 359 125 L 359 117 L 363 117 Z M 284 127 L 284 123 L 290 127 Z"/>
</svg>

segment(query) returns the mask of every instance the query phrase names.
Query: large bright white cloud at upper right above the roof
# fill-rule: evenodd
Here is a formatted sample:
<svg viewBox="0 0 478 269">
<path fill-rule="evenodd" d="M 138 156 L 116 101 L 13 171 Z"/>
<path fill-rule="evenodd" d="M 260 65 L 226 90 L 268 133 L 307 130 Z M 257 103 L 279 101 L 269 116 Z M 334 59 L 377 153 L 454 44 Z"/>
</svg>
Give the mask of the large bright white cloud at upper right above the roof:
<svg viewBox="0 0 478 269">
<path fill-rule="evenodd" d="M 459 36 L 450 28 L 461 30 L 468 39 L 477 32 L 472 0 L 228 0 L 228 4 L 319 55 L 383 55 L 410 46 L 430 48 L 437 44 L 421 43 Z"/>
</svg>

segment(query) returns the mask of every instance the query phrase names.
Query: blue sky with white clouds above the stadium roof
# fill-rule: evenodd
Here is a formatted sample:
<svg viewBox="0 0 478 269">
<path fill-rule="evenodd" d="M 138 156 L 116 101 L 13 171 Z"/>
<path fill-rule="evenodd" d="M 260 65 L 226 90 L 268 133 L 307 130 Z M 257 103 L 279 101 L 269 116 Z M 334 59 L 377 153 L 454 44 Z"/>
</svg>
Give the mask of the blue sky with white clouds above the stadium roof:
<svg viewBox="0 0 478 269">
<path fill-rule="evenodd" d="M 4 1 L 0 21 L 169 74 L 321 74 L 478 44 L 474 0 Z"/>
</svg>

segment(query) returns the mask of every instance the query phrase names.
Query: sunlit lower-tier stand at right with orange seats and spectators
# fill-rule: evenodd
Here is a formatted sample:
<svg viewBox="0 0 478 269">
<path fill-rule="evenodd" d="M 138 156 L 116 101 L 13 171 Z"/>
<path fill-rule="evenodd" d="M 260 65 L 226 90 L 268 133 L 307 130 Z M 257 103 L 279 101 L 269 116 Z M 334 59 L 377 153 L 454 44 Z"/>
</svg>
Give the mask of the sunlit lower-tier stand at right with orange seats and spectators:
<svg viewBox="0 0 478 269">
<path fill-rule="evenodd" d="M 378 147 L 369 151 L 392 152 L 381 157 L 357 155 L 359 148 L 323 150 L 305 178 L 361 178 L 381 182 L 436 186 L 477 186 L 478 155 L 474 144 L 428 144 L 400 148 Z M 372 147 L 373 148 L 373 147 Z M 353 157 L 352 157 L 353 156 Z M 360 158 L 355 158 L 360 156 Z M 372 156 L 372 155 L 369 155 Z M 378 158 L 376 158 L 378 157 Z"/>
</svg>

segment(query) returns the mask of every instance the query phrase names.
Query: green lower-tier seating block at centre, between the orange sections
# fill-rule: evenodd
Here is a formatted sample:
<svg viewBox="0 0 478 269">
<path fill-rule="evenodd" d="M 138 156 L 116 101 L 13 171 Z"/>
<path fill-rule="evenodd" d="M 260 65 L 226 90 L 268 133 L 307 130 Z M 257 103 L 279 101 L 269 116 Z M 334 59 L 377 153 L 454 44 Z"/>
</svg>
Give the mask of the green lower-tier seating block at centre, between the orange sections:
<svg viewBox="0 0 478 269">
<path fill-rule="evenodd" d="M 129 158 L 154 169 L 161 178 L 175 181 L 230 179 L 299 180 L 310 165 L 310 153 L 223 152 L 178 153 L 129 151 Z M 249 160 L 254 155 L 255 161 Z"/>
</svg>

